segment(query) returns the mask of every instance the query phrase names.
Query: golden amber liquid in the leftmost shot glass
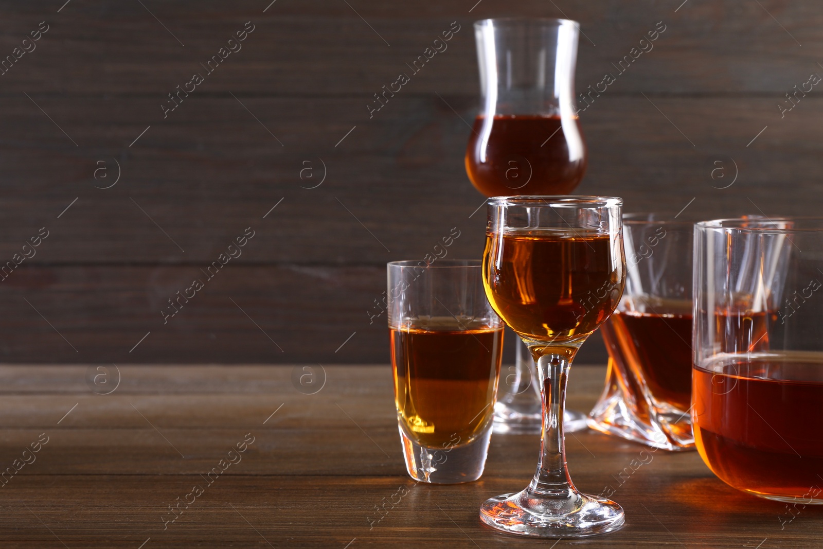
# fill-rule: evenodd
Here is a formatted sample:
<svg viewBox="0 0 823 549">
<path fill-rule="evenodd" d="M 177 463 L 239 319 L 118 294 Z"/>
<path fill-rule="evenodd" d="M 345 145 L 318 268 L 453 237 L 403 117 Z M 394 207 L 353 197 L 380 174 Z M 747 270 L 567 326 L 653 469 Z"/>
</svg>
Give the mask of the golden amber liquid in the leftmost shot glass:
<svg viewBox="0 0 823 549">
<path fill-rule="evenodd" d="M 428 448 L 472 442 L 494 415 L 503 326 L 429 319 L 391 328 L 394 398 L 407 435 Z"/>
</svg>

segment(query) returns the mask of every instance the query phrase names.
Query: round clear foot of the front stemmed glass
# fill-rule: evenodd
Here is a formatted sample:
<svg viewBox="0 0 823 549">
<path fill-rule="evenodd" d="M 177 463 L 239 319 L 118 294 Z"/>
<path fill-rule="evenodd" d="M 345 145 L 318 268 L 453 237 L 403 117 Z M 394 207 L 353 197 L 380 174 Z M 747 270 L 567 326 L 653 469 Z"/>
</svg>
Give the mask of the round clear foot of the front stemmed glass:
<svg viewBox="0 0 823 549">
<path fill-rule="evenodd" d="M 625 522 L 623 508 L 573 492 L 569 498 L 535 499 L 529 489 L 498 495 L 480 507 L 480 519 L 507 533 L 534 537 L 589 537 L 614 532 Z"/>
</svg>

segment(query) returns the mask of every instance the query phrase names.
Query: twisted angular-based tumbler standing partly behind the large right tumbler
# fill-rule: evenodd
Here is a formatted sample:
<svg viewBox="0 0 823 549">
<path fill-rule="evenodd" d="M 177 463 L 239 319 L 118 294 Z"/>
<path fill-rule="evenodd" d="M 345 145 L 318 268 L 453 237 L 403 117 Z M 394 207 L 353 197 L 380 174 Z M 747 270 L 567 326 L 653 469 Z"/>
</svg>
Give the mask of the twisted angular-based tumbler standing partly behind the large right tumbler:
<svg viewBox="0 0 823 549">
<path fill-rule="evenodd" d="M 694 223 L 625 214 L 625 291 L 601 328 L 606 387 L 588 426 L 667 450 L 693 449 L 691 430 Z M 669 220 L 669 221 L 667 221 Z"/>
</svg>

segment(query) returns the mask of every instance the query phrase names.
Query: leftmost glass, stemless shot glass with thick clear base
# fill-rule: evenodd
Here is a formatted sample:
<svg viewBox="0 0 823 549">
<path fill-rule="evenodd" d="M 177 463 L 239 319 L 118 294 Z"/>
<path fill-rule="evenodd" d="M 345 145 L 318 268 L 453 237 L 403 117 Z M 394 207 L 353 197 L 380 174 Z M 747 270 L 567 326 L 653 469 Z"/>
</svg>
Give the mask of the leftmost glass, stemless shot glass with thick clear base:
<svg viewBox="0 0 823 549">
<path fill-rule="evenodd" d="M 503 327 L 479 260 L 388 263 L 394 400 L 409 476 L 436 484 L 483 474 Z"/>
</svg>

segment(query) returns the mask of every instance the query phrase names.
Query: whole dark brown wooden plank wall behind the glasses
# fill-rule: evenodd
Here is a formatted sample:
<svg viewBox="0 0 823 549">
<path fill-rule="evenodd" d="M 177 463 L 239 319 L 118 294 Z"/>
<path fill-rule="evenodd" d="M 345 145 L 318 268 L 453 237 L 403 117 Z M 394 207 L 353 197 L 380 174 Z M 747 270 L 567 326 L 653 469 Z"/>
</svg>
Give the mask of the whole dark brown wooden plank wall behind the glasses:
<svg viewBox="0 0 823 549">
<path fill-rule="evenodd" d="M 663 21 L 581 113 L 580 193 L 704 216 L 820 209 L 823 88 L 778 106 L 823 75 L 820 2 L 63 2 L 0 2 L 0 58 L 49 28 L 0 76 L 0 263 L 49 231 L 0 282 L 3 361 L 387 361 L 385 315 L 370 319 L 384 263 L 453 227 L 449 257 L 481 254 L 464 120 L 472 21 L 489 16 L 580 21 L 579 91 Z M 207 74 L 247 21 L 242 49 Z M 374 92 L 452 21 L 448 49 L 370 118 Z M 164 323 L 195 278 L 205 286 Z"/>
</svg>

